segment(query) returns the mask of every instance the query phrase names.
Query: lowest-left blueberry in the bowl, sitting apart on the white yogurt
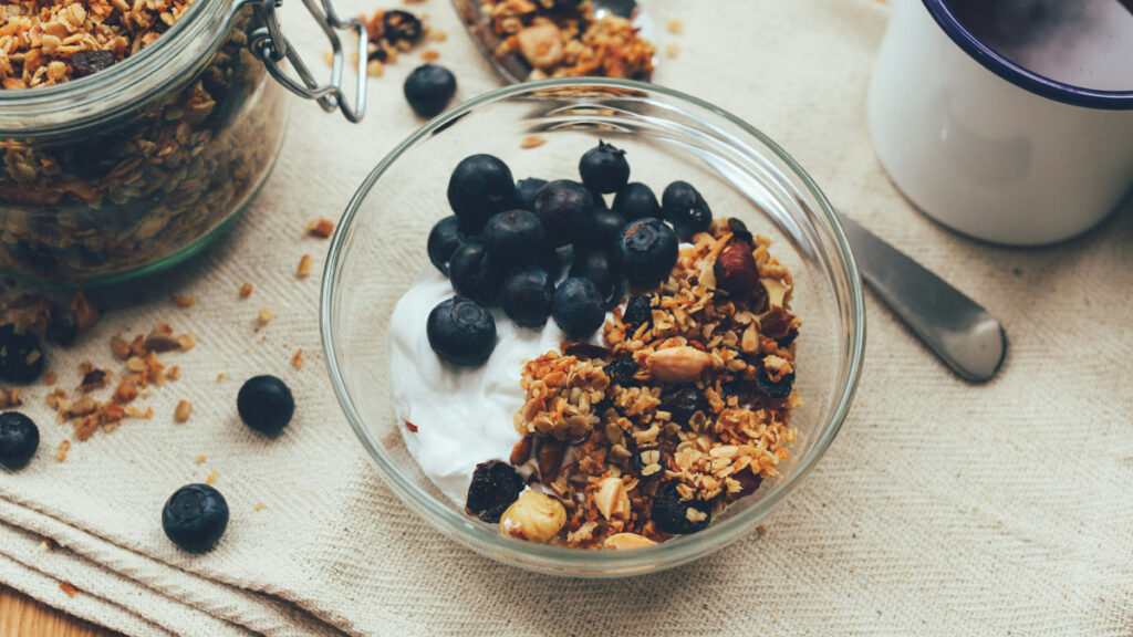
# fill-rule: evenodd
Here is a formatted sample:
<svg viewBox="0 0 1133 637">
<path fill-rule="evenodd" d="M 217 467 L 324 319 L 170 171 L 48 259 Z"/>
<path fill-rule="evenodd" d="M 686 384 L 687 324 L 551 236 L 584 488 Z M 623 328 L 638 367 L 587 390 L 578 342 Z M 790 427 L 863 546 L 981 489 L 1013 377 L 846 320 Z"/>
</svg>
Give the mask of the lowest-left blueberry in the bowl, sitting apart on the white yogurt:
<svg viewBox="0 0 1133 637">
<path fill-rule="evenodd" d="M 452 297 L 428 313 L 425 322 L 428 345 L 453 365 L 475 367 L 495 349 L 495 320 L 492 313 L 471 299 Z"/>
</svg>

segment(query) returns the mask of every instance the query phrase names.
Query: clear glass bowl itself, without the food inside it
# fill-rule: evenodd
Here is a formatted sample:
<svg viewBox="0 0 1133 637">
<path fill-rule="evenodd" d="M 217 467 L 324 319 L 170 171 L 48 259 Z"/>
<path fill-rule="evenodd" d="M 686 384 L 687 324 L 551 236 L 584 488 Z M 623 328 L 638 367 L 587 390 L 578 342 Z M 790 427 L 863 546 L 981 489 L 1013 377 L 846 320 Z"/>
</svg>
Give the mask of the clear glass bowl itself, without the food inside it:
<svg viewBox="0 0 1133 637">
<path fill-rule="evenodd" d="M 545 144 L 521 148 L 525 138 Z M 705 530 L 657 546 L 586 551 L 501 535 L 445 498 L 406 449 L 389 385 L 386 326 L 421 269 L 432 226 L 451 214 L 449 175 L 465 156 L 491 153 L 517 179 L 577 175 L 602 138 L 627 151 L 631 179 L 658 194 L 675 179 L 704 194 L 717 218 L 735 216 L 773 239 L 794 275 L 798 440 L 781 474 L 730 506 Z M 444 535 L 502 562 L 536 571 L 611 577 L 674 567 L 756 527 L 815 467 L 837 434 L 861 371 L 861 283 L 826 197 L 774 142 L 701 100 L 649 84 L 594 78 L 510 86 L 434 119 L 374 168 L 335 230 L 322 288 L 322 332 L 331 381 L 347 418 L 385 484 Z M 424 317 L 423 317 L 424 318 Z M 519 370 L 516 382 L 519 382 Z M 510 426 L 510 423 L 509 423 Z M 485 458 L 486 460 L 487 458 Z"/>
</svg>

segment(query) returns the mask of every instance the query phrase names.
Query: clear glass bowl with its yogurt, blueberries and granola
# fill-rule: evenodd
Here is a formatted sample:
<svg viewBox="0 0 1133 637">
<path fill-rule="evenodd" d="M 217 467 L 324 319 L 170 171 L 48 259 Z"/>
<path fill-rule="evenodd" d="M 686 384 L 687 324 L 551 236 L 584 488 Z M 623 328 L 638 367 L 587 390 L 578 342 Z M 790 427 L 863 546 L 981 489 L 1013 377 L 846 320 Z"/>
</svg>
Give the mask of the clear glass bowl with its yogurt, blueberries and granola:
<svg viewBox="0 0 1133 637">
<path fill-rule="evenodd" d="M 582 576 L 752 529 L 837 433 L 863 331 L 806 173 L 620 80 L 431 122 L 355 196 L 323 287 L 332 381 L 390 490 L 482 553 Z"/>
</svg>

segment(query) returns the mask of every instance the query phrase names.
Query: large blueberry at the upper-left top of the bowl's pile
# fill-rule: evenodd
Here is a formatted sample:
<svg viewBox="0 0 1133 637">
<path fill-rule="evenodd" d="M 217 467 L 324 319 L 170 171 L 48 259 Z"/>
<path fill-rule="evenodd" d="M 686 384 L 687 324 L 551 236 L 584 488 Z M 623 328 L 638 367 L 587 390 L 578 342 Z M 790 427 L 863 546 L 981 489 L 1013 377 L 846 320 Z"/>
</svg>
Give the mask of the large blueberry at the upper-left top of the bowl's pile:
<svg viewBox="0 0 1133 637">
<path fill-rule="evenodd" d="M 478 233 L 493 214 L 511 207 L 514 193 L 508 164 L 492 155 L 465 158 L 449 178 L 449 205 L 465 230 L 472 233 Z"/>
</svg>

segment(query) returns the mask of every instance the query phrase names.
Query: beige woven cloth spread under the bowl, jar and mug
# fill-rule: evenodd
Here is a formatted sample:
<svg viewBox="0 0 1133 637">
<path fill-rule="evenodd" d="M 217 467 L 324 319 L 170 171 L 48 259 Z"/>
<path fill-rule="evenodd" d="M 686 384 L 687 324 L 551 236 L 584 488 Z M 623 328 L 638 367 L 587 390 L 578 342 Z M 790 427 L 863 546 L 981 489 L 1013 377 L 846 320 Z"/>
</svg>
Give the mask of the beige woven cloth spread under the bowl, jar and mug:
<svg viewBox="0 0 1133 637">
<path fill-rule="evenodd" d="M 912 0 L 910 0 L 912 1 Z M 376 8 L 335 0 L 346 12 Z M 69 427 L 27 391 L 43 435 L 36 460 L 0 472 L 0 581 L 129 635 L 1108 635 L 1133 629 L 1133 215 L 1042 249 L 947 232 L 886 179 L 866 131 L 870 63 L 887 8 L 876 0 L 647 0 L 662 54 L 656 80 L 764 129 L 835 205 L 998 315 L 1012 346 L 985 387 L 953 377 L 867 298 L 866 372 L 850 418 L 766 534 L 665 574 L 593 581 L 530 575 L 445 540 L 384 489 L 347 426 L 322 363 L 318 280 L 300 255 L 326 241 L 308 220 L 338 218 L 369 168 L 419 122 L 401 96 L 415 60 L 370 80 L 364 124 L 293 100 L 291 130 L 259 199 L 203 256 L 135 290 L 95 295 L 109 311 L 83 345 L 156 320 L 199 336 L 168 355 L 184 377 L 148 402 L 156 416 L 52 456 Z M 289 31 L 322 46 L 298 3 Z M 383 5 L 393 6 L 391 1 Z M 441 62 L 470 97 L 499 85 L 448 2 L 414 6 L 448 31 Z M 670 17 L 682 35 L 666 33 Z M 318 68 L 323 68 L 318 66 Z M 325 69 L 324 69 L 325 70 Z M 437 179 L 444 179 L 438 172 Z M 423 246 L 424 249 L 424 246 Z M 238 300 L 245 281 L 255 286 Z M 172 291 L 197 304 L 177 308 Z M 117 295 L 117 296 L 116 296 Z M 275 320 L 259 332 L 255 316 Z M 297 348 L 307 366 L 293 370 Z M 216 380 L 219 373 L 227 377 Z M 242 379 L 281 375 L 298 413 L 274 441 L 235 415 Z M 179 399 L 191 419 L 173 424 Z M 207 460 L 196 465 L 194 458 Z M 219 473 L 232 520 L 190 557 L 161 532 L 178 486 Z M 257 502 L 266 508 L 254 511 Z M 42 538 L 60 545 L 43 551 Z M 79 593 L 69 597 L 59 581 Z"/>
</svg>

